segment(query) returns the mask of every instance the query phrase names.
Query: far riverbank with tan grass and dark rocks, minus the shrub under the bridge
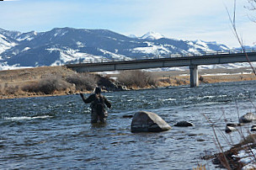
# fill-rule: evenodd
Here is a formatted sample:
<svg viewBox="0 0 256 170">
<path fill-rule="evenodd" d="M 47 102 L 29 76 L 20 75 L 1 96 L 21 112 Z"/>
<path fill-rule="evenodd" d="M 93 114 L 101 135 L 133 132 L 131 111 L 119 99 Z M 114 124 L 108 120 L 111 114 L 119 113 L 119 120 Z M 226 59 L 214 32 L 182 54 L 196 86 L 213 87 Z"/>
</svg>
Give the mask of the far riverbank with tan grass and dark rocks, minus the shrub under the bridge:
<svg viewBox="0 0 256 170">
<path fill-rule="evenodd" d="M 151 72 L 155 85 L 142 88 L 163 88 L 169 86 L 189 85 L 189 70 Z M 140 89 L 136 86 L 127 86 L 115 81 L 118 74 L 78 74 L 63 66 L 41 66 L 19 70 L 0 72 L 0 99 L 28 98 L 42 96 L 58 96 L 73 93 L 91 93 L 96 84 L 104 87 L 105 91 L 126 89 Z M 202 83 L 238 82 L 256 80 L 250 68 L 237 69 L 201 69 L 199 80 Z M 36 86 L 45 84 L 42 89 Z M 86 87 L 83 84 L 87 84 Z M 46 91 L 47 90 L 47 91 Z"/>
</svg>

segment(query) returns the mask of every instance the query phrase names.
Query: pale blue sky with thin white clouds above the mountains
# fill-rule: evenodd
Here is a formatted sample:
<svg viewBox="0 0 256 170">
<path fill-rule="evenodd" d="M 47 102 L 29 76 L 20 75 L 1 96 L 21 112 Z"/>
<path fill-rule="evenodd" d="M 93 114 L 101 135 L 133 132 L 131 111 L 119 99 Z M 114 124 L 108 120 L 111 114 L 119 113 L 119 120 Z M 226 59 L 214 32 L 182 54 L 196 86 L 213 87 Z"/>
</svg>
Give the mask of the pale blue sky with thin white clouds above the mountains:
<svg viewBox="0 0 256 170">
<path fill-rule="evenodd" d="M 244 45 L 256 42 L 256 23 L 237 0 L 237 30 Z M 8 0 L 0 3 L 0 28 L 21 32 L 53 28 L 109 29 L 141 36 L 155 31 L 168 38 L 217 41 L 239 46 L 227 15 L 233 0 Z"/>
</svg>

